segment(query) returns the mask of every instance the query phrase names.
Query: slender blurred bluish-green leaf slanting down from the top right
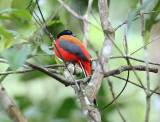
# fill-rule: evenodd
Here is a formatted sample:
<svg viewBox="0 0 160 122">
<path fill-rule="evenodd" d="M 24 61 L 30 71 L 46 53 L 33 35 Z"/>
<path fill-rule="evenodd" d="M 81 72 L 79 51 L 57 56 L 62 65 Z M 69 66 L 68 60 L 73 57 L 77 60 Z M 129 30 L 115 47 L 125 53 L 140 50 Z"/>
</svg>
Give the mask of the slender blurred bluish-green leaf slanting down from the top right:
<svg viewBox="0 0 160 122">
<path fill-rule="evenodd" d="M 127 27 L 129 28 L 131 26 L 132 20 L 136 17 L 136 14 L 144 9 L 147 5 L 152 3 L 154 0 L 146 0 L 141 6 L 137 7 L 134 11 L 132 11 L 128 16 L 128 23 Z"/>
</svg>

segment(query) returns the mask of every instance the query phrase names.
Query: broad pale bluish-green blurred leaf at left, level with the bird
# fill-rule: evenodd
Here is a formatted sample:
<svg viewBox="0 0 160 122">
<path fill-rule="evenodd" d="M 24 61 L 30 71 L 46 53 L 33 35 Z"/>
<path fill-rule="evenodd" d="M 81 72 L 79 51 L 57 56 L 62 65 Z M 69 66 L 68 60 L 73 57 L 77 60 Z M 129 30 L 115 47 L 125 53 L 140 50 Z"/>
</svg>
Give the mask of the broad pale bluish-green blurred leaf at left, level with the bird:
<svg viewBox="0 0 160 122">
<path fill-rule="evenodd" d="M 29 47 L 26 46 L 21 49 L 9 48 L 2 52 L 2 57 L 8 61 L 12 70 L 16 70 L 24 64 L 28 54 Z"/>
</svg>

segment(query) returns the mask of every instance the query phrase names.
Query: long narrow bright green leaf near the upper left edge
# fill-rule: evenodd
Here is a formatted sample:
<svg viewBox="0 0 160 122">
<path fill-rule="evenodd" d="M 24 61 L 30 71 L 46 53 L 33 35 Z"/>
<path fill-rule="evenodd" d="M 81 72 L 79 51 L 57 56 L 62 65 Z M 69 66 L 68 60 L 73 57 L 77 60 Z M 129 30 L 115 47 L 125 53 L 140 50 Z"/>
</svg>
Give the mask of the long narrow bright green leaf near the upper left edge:
<svg viewBox="0 0 160 122">
<path fill-rule="evenodd" d="M 15 14 L 15 15 L 25 17 L 26 19 L 31 19 L 31 15 L 27 10 L 5 9 L 5 10 L 0 11 L 0 14 L 4 14 L 4 13 L 11 13 L 11 14 Z"/>
</svg>

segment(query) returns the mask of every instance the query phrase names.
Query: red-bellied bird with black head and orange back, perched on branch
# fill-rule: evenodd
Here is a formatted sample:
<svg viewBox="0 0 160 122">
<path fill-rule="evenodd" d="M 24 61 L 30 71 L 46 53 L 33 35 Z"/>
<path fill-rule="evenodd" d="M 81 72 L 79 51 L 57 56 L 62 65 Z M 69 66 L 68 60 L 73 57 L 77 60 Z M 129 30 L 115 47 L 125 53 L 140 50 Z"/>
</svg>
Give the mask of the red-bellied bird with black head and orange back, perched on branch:
<svg viewBox="0 0 160 122">
<path fill-rule="evenodd" d="M 63 30 L 57 35 L 54 51 L 56 56 L 60 59 L 63 57 L 66 62 L 77 63 L 84 72 L 85 77 L 91 75 L 91 60 L 89 53 L 83 43 L 76 38 L 76 35 L 73 34 L 72 31 Z"/>
</svg>

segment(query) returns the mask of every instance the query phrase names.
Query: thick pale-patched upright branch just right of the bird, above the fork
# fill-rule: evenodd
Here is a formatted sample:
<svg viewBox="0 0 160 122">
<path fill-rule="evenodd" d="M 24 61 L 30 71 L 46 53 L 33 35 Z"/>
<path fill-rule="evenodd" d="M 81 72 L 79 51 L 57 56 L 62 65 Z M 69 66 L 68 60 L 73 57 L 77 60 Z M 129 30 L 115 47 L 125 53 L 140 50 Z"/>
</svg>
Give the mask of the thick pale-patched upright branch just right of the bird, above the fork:
<svg viewBox="0 0 160 122">
<path fill-rule="evenodd" d="M 107 0 L 99 0 L 98 7 L 99 7 L 101 25 L 104 33 L 104 43 L 99 58 L 99 62 L 95 68 L 90 83 L 86 87 L 86 94 L 90 101 L 93 101 L 101 86 L 101 82 L 104 77 L 104 71 L 107 68 L 107 64 L 109 61 L 109 56 L 112 50 L 114 35 L 115 35 L 114 29 L 112 28 L 109 20 L 109 10 L 108 10 Z"/>
</svg>

